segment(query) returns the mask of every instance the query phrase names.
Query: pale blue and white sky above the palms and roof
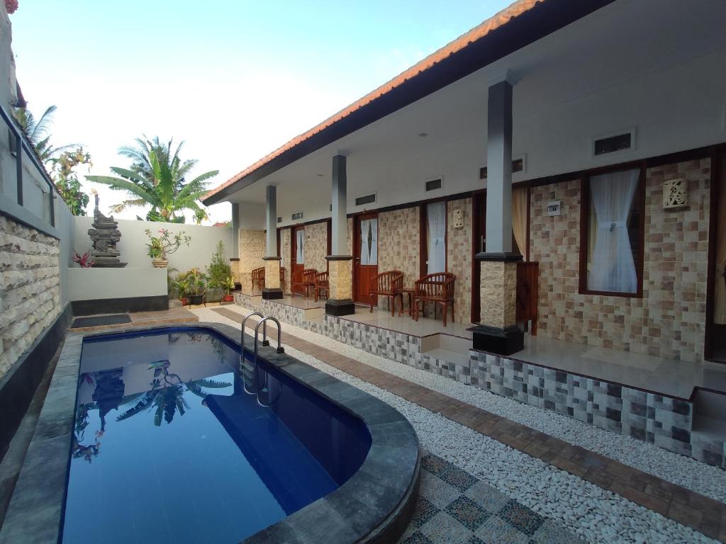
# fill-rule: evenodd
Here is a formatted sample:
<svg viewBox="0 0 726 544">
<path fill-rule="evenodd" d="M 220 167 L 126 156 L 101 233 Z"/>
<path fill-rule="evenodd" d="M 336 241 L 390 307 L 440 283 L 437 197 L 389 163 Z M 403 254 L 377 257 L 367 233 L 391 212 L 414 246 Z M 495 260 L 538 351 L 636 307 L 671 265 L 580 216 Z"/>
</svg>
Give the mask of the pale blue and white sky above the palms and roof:
<svg viewBox="0 0 726 544">
<path fill-rule="evenodd" d="M 510 0 L 20 0 L 17 79 L 52 143 L 127 168 L 137 136 L 184 140 L 217 186 L 503 9 Z M 91 184 L 101 210 L 124 193 Z M 93 199 L 89 205 L 92 213 Z M 116 214 L 134 219 L 147 210 Z M 208 207 L 211 223 L 229 203 Z"/>
</svg>

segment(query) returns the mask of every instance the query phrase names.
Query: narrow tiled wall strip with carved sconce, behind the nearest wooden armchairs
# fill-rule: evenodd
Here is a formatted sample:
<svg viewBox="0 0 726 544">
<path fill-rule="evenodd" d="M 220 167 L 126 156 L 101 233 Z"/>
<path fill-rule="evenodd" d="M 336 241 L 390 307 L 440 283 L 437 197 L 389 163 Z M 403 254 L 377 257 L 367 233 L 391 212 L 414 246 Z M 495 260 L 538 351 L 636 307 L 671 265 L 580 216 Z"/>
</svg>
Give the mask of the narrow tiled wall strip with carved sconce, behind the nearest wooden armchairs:
<svg viewBox="0 0 726 544">
<path fill-rule="evenodd" d="M 454 210 L 464 213 L 463 228 L 454 228 Z M 456 274 L 454 321 L 471 321 L 472 200 L 446 203 L 446 271 Z"/>
</svg>

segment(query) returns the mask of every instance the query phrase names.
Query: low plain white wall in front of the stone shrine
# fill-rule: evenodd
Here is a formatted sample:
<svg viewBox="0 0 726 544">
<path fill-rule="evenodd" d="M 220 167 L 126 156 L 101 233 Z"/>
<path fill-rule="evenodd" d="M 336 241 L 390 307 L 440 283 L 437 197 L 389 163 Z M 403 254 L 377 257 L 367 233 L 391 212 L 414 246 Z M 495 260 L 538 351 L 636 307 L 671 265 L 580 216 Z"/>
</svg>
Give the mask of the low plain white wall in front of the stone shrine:
<svg viewBox="0 0 726 544">
<path fill-rule="evenodd" d="M 167 293 L 165 268 L 68 268 L 68 300 L 158 297 Z"/>
</svg>

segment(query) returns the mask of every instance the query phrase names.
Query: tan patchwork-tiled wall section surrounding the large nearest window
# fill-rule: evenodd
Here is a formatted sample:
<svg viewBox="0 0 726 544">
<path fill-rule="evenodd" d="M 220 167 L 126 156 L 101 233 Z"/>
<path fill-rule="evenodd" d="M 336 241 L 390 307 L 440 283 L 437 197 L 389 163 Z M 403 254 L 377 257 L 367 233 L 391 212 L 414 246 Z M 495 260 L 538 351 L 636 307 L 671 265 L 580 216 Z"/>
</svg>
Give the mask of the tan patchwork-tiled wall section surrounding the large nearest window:
<svg viewBox="0 0 726 544">
<path fill-rule="evenodd" d="M 666 179 L 688 180 L 689 205 L 662 209 Z M 649 168 L 643 298 L 579 294 L 579 179 L 533 187 L 531 260 L 539 261 L 539 334 L 700 362 L 706 323 L 709 159 Z M 560 216 L 544 206 L 562 200 Z"/>
</svg>

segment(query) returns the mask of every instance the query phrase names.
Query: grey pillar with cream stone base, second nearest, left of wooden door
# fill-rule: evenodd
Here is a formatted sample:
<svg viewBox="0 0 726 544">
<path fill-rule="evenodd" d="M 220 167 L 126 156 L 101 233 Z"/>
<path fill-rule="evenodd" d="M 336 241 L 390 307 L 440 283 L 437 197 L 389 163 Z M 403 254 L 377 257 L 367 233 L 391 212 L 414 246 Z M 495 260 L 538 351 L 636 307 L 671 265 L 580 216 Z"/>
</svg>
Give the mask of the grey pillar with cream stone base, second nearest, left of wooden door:
<svg viewBox="0 0 726 544">
<path fill-rule="evenodd" d="M 353 255 L 348 252 L 348 218 L 346 203 L 346 157 L 333 157 L 333 213 L 331 225 L 332 255 L 328 262 L 330 296 L 325 302 L 325 313 L 331 316 L 349 316 L 356 313 L 353 303 Z"/>
</svg>

